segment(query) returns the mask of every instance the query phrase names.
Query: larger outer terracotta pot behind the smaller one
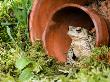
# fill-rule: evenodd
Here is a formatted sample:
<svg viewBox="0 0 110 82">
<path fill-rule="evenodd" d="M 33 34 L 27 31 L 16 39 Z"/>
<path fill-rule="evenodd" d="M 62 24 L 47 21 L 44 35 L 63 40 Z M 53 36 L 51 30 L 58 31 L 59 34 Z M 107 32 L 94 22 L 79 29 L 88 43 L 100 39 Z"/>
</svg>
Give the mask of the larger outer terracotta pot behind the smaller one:
<svg viewBox="0 0 110 82">
<path fill-rule="evenodd" d="M 29 19 L 30 40 L 41 39 L 50 14 L 60 6 L 68 3 L 84 5 L 92 0 L 34 0 Z"/>
</svg>

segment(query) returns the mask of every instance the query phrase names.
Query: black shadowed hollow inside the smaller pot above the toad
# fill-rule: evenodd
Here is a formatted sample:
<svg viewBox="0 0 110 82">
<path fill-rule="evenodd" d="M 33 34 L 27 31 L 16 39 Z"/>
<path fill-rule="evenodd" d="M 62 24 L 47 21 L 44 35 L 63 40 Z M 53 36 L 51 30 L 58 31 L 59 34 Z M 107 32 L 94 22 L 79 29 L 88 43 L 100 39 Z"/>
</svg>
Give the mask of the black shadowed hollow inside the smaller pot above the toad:
<svg viewBox="0 0 110 82">
<path fill-rule="evenodd" d="M 52 17 L 55 23 L 65 23 L 66 25 L 73 25 L 75 27 L 85 27 L 91 29 L 94 27 L 90 16 L 83 10 L 76 7 L 64 7 L 57 11 Z"/>
</svg>

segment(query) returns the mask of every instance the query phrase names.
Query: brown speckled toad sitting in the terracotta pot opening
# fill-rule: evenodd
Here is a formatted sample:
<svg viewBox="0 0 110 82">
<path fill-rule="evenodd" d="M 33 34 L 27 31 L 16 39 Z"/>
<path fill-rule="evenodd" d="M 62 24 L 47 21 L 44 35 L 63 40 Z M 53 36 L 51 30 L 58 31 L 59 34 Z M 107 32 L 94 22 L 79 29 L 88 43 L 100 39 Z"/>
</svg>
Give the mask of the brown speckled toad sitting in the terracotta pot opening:
<svg viewBox="0 0 110 82">
<path fill-rule="evenodd" d="M 87 29 L 69 26 L 67 34 L 72 39 L 70 49 L 67 53 L 68 61 L 74 62 L 72 61 L 73 55 L 80 57 L 89 56 L 91 54 L 91 49 L 95 46 L 95 36 L 90 35 Z"/>
</svg>

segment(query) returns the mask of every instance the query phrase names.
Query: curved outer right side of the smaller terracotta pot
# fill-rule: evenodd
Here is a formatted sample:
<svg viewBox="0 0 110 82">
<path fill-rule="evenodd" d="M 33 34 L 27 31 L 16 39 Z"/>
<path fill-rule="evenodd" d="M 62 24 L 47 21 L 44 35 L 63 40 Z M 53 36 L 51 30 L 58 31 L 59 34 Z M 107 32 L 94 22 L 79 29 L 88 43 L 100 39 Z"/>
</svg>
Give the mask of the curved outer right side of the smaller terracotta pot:
<svg viewBox="0 0 110 82">
<path fill-rule="evenodd" d="M 109 29 L 105 19 L 93 9 L 82 8 L 91 17 L 96 29 L 96 46 L 109 44 Z"/>
</svg>

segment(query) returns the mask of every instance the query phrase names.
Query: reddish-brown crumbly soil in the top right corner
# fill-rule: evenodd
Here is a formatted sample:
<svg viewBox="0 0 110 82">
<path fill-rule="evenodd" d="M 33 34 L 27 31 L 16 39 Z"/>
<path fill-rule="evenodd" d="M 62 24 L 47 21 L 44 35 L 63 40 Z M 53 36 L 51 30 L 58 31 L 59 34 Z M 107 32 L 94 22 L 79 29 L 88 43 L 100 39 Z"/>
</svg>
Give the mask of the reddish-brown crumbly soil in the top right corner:
<svg viewBox="0 0 110 82">
<path fill-rule="evenodd" d="M 89 7 L 102 15 L 110 24 L 110 0 L 95 0 Z"/>
</svg>

